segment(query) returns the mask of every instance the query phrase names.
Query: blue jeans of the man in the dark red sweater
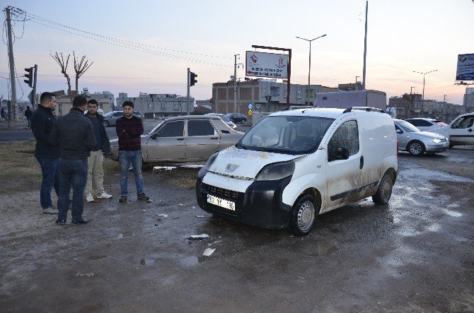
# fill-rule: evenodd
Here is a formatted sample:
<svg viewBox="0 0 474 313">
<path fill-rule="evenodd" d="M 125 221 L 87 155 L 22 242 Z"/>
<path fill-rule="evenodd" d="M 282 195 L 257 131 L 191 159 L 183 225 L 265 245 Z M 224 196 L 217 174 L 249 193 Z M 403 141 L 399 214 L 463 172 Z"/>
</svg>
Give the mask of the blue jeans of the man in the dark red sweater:
<svg viewBox="0 0 474 313">
<path fill-rule="evenodd" d="M 127 196 L 128 194 L 128 169 L 130 167 L 130 163 L 132 163 L 133 166 L 133 176 L 135 177 L 137 194 L 145 192 L 143 189 L 143 175 L 141 175 L 141 161 L 141 150 L 119 150 L 121 196 Z"/>
</svg>

